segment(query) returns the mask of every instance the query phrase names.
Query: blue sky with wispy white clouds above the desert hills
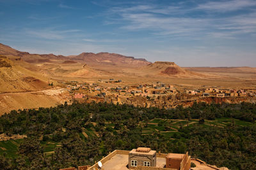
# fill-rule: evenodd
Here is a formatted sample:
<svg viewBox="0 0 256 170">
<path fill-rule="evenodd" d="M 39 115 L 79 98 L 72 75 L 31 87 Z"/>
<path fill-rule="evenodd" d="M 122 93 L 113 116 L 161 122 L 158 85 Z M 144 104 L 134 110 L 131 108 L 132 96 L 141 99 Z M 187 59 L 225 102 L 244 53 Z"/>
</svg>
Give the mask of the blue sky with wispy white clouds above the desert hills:
<svg viewBox="0 0 256 170">
<path fill-rule="evenodd" d="M 0 43 L 179 66 L 256 67 L 255 0 L 0 0 Z"/>
</svg>

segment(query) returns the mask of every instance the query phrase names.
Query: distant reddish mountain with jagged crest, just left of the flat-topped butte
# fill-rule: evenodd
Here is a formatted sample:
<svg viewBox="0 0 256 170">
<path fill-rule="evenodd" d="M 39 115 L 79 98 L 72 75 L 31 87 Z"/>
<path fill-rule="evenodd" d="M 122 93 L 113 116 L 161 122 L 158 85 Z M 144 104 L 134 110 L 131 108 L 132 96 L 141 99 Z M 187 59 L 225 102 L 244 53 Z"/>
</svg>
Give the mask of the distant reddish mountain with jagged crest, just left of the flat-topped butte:
<svg viewBox="0 0 256 170">
<path fill-rule="evenodd" d="M 118 53 L 81 53 L 77 56 L 70 57 L 71 60 L 80 60 L 86 62 L 88 66 L 122 66 L 122 67 L 140 67 L 147 66 L 151 62 L 145 59 L 135 59 Z"/>
</svg>

